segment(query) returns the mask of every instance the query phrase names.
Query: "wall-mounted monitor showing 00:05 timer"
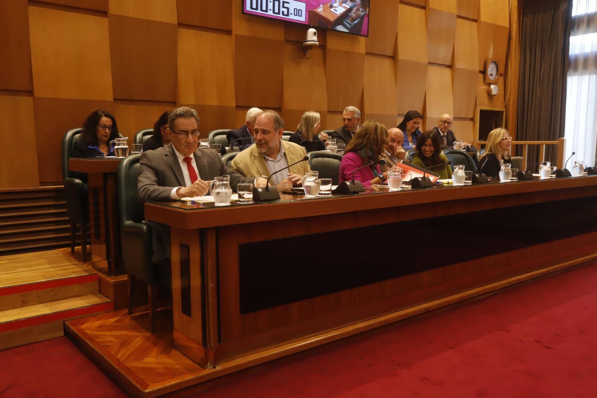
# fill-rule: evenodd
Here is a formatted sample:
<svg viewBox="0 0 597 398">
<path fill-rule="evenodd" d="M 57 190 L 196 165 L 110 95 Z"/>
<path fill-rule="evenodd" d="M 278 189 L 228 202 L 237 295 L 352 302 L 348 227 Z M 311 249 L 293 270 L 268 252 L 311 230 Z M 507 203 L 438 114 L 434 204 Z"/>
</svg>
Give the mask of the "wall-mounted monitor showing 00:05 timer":
<svg viewBox="0 0 597 398">
<path fill-rule="evenodd" d="M 242 13 L 336 30 L 369 35 L 370 0 L 241 0 Z"/>
</svg>

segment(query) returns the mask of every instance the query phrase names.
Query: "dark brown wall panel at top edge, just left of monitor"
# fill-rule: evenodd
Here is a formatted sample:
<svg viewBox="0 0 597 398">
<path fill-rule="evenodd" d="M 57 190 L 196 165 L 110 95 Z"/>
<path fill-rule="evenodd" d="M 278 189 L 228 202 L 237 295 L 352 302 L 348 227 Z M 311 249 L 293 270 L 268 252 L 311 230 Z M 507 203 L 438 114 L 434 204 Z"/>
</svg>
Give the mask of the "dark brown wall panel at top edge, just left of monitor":
<svg viewBox="0 0 597 398">
<path fill-rule="evenodd" d="M 179 23 L 232 30 L 232 0 L 176 0 L 176 8 Z"/>
</svg>

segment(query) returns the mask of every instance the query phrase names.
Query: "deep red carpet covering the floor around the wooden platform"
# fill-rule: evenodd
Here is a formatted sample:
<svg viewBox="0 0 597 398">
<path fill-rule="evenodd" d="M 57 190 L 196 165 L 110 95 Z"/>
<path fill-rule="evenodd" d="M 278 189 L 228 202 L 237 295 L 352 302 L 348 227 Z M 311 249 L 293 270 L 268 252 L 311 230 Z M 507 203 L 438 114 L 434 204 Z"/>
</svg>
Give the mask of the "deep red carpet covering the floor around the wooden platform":
<svg viewBox="0 0 597 398">
<path fill-rule="evenodd" d="M 283 359 L 201 397 L 594 397 L 597 264 Z M 65 338 L 0 351 L 0 396 L 122 396 Z M 2 394 L 4 393 L 4 395 Z"/>
</svg>

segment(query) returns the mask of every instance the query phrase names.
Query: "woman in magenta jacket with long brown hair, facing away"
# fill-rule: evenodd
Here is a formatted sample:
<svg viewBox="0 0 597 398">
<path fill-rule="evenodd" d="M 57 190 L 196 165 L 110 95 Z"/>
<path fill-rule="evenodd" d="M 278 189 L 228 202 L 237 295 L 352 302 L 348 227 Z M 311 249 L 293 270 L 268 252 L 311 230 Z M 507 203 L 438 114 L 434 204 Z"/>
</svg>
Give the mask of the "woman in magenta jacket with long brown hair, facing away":
<svg viewBox="0 0 597 398">
<path fill-rule="evenodd" d="M 387 129 L 383 124 L 374 120 L 363 123 L 356 131 L 355 137 L 344 149 L 344 157 L 340 163 L 340 183 L 352 181 L 353 173 L 355 180 L 361 181 L 363 186 L 384 182 L 387 172 L 381 173 L 378 164 L 356 170 L 372 161 L 380 161 L 386 143 Z"/>
</svg>

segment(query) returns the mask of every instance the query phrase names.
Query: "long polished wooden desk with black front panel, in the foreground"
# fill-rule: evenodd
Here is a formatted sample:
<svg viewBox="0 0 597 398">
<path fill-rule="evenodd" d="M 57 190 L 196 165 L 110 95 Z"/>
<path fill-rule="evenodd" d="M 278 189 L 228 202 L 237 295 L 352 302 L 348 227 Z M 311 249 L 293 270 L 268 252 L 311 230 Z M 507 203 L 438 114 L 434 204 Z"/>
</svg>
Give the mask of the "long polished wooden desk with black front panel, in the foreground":
<svg viewBox="0 0 597 398">
<path fill-rule="evenodd" d="M 171 226 L 174 344 L 221 375 L 595 259 L 596 199 L 577 177 L 145 216 Z"/>
</svg>

